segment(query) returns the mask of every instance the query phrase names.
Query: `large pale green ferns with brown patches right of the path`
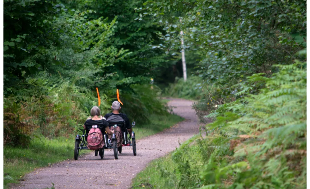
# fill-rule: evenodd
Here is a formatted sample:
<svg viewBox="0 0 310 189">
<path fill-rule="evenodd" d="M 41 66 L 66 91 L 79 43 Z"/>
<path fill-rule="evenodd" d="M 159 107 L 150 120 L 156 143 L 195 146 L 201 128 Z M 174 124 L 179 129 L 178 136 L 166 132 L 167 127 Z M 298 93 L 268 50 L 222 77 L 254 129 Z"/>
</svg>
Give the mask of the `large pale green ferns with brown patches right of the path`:
<svg viewBox="0 0 310 189">
<path fill-rule="evenodd" d="M 210 182 L 204 171 L 205 185 L 224 187 L 224 179 L 231 188 L 305 187 L 305 62 L 277 67 L 280 71 L 272 78 L 250 76 L 250 82 L 263 81 L 265 88 L 233 102 L 210 124 L 231 139 L 234 155 L 223 168 L 215 168 L 218 179 Z"/>
</svg>

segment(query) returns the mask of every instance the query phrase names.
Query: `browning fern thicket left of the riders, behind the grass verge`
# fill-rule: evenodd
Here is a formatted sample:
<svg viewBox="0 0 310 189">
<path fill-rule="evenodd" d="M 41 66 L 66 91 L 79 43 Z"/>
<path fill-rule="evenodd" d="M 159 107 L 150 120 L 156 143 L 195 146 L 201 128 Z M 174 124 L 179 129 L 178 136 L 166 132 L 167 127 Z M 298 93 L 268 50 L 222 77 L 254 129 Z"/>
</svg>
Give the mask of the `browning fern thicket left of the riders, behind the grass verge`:
<svg viewBox="0 0 310 189">
<path fill-rule="evenodd" d="M 43 86 L 38 86 L 44 88 Z M 69 136 L 89 116 L 97 99 L 90 91 L 81 92 L 74 84 L 64 82 L 48 90 L 48 95 L 5 98 L 4 141 L 13 146 L 26 146 L 31 135 Z M 20 103 L 16 103 L 17 100 Z M 107 105 L 102 103 L 103 107 Z M 37 130 L 38 129 L 38 130 Z"/>
</svg>

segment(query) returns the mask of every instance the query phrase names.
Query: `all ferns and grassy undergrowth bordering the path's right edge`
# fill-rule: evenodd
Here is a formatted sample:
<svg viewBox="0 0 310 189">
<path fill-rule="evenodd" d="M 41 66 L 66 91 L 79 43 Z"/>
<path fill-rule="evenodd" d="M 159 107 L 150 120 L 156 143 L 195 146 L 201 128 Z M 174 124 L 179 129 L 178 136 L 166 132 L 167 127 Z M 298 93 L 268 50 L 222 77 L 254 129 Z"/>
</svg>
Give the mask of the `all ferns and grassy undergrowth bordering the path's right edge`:
<svg viewBox="0 0 310 189">
<path fill-rule="evenodd" d="M 239 84 L 237 100 L 208 115 L 206 135 L 153 161 L 133 187 L 306 188 L 306 62 L 276 67 Z"/>
</svg>

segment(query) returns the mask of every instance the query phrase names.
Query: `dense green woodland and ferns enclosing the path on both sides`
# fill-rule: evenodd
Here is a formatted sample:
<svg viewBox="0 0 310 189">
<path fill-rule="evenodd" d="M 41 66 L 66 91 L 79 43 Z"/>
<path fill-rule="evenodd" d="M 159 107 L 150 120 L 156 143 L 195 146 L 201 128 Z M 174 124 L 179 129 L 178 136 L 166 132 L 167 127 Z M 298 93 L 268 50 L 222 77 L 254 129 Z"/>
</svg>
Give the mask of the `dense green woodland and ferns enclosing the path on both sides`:
<svg viewBox="0 0 310 189">
<path fill-rule="evenodd" d="M 119 88 L 140 122 L 167 114 L 159 96 L 189 98 L 213 122 L 173 170 L 158 165 L 165 186 L 305 188 L 306 13 L 304 0 L 5 0 L 4 144 L 74 135 L 95 87 L 103 113 Z"/>
</svg>

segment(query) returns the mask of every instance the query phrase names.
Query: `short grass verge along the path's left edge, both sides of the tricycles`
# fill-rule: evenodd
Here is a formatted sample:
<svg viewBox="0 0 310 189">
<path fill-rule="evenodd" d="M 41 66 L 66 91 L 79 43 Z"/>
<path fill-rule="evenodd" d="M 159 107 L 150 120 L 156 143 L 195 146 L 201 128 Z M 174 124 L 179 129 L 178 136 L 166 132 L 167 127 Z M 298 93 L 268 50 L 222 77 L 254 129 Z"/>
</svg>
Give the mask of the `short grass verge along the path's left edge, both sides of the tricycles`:
<svg viewBox="0 0 310 189">
<path fill-rule="evenodd" d="M 167 116 L 154 115 L 150 120 L 150 124 L 139 125 L 137 123 L 133 128 L 137 139 L 170 128 L 177 122 L 183 121 L 184 118 L 169 114 Z M 91 151 L 84 150 L 80 153 L 88 152 Z M 28 148 L 6 146 L 3 149 L 3 154 L 3 184 L 4 188 L 7 188 L 9 183 L 18 183 L 24 180 L 25 174 L 40 167 L 52 166 L 53 163 L 73 159 L 74 138 L 33 138 Z"/>
</svg>

